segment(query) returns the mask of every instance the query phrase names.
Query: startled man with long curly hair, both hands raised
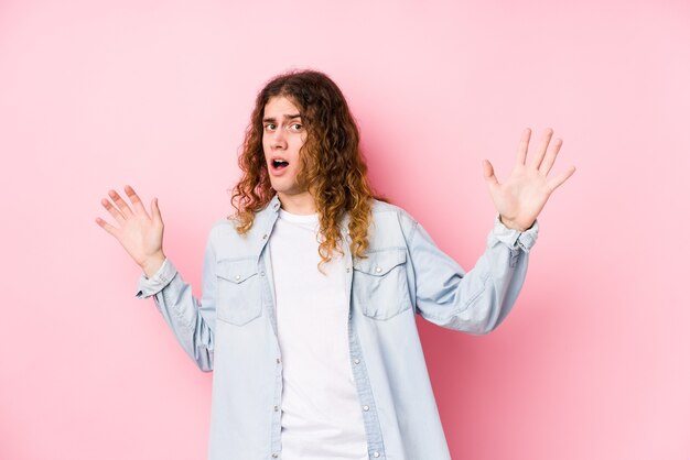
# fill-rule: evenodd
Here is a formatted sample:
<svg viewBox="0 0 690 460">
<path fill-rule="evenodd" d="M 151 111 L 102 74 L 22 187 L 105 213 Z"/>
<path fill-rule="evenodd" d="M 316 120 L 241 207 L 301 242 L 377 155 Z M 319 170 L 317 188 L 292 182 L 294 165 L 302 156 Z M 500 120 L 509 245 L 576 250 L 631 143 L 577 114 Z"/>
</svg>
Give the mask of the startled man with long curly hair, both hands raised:
<svg viewBox="0 0 690 460">
<path fill-rule="evenodd" d="M 184 350 L 214 371 L 209 458 L 449 459 L 414 314 L 485 333 L 522 285 L 536 219 L 574 168 L 548 178 L 561 141 L 548 130 L 499 184 L 486 252 L 465 273 L 402 209 L 375 199 L 345 98 L 324 74 L 295 72 L 260 91 L 239 157 L 235 216 L 204 258 L 201 303 L 162 250 L 131 187 L 103 205 Z"/>
</svg>

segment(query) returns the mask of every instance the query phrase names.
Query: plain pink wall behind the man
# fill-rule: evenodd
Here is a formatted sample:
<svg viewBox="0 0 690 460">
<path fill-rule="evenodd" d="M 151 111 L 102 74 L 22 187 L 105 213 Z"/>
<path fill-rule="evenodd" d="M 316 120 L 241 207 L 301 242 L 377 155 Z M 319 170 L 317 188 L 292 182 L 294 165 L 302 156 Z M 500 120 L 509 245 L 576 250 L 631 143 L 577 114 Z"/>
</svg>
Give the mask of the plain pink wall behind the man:
<svg viewBox="0 0 690 460">
<path fill-rule="evenodd" d="M 377 189 L 466 269 L 482 158 L 505 178 L 553 127 L 578 166 L 498 330 L 419 321 L 454 459 L 690 458 L 690 3 L 559 3 L 0 1 L 0 458 L 205 457 L 212 375 L 94 219 L 111 187 L 158 196 L 198 295 L 256 92 L 294 67 L 339 84 Z"/>
</svg>

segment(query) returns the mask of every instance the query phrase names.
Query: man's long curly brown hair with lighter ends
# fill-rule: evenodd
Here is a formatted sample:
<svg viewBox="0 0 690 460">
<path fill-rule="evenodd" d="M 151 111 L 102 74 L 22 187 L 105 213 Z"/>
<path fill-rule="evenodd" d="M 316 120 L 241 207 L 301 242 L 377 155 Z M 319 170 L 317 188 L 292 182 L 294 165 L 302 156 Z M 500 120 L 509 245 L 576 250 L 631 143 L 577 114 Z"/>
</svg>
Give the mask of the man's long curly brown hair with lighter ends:
<svg viewBox="0 0 690 460">
<path fill-rule="evenodd" d="M 343 254 L 339 222 L 349 213 L 348 233 L 353 256 L 364 259 L 369 245 L 374 195 L 359 149 L 359 130 L 341 89 L 323 73 L 294 70 L 272 78 L 258 94 L 251 121 L 239 154 L 242 175 L 233 189 L 237 231 L 245 234 L 255 213 L 263 209 L 276 190 L 263 156 L 263 108 L 273 97 L 288 98 L 299 110 L 306 140 L 300 150 L 298 184 L 313 195 L 322 238 L 321 262 Z"/>
</svg>

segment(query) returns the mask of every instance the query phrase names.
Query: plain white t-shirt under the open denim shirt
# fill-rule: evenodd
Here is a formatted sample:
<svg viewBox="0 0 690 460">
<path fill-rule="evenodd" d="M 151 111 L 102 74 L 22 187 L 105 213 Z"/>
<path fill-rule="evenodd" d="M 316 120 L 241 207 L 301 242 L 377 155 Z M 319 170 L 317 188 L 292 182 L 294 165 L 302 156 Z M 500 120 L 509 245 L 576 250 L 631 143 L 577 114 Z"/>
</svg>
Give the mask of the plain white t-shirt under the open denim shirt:
<svg viewBox="0 0 690 460">
<path fill-rule="evenodd" d="M 280 210 L 269 242 L 283 362 L 282 459 L 366 460 L 349 362 L 345 262 L 319 271 L 319 216 Z"/>
</svg>

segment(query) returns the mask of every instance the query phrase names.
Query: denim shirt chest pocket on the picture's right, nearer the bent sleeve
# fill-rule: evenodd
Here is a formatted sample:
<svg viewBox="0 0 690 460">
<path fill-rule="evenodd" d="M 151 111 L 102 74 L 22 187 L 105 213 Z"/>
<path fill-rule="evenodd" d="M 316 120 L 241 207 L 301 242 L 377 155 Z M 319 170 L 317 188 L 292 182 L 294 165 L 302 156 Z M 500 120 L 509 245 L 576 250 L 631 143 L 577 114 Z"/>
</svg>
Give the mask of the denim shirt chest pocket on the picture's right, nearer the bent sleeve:
<svg viewBox="0 0 690 460">
<path fill-rule="evenodd" d="M 411 308 L 407 251 L 389 249 L 366 255 L 353 265 L 353 296 L 362 313 L 374 319 L 389 319 Z"/>
</svg>

